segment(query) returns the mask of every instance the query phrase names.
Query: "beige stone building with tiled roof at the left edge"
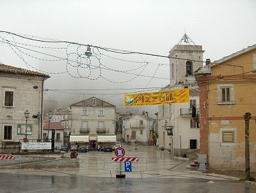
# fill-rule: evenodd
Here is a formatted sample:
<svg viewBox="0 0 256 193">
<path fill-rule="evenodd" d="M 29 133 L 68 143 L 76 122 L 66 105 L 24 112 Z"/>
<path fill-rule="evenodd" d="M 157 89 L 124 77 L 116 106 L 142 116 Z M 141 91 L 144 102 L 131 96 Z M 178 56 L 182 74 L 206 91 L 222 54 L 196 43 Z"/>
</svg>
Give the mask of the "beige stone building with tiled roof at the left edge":
<svg viewBox="0 0 256 193">
<path fill-rule="evenodd" d="M 49 75 L 0 63 L 0 143 L 41 139 L 44 81 Z M 28 111 L 27 118 L 25 112 Z M 26 127 L 27 126 L 27 127 Z"/>
</svg>

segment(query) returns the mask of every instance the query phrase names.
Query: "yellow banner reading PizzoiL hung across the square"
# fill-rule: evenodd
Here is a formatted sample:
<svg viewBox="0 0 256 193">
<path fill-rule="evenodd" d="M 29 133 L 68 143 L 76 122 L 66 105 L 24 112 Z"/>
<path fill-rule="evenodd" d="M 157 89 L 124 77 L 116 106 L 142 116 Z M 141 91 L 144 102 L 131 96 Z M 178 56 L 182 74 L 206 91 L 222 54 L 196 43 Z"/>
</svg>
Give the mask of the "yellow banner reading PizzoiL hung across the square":
<svg viewBox="0 0 256 193">
<path fill-rule="evenodd" d="M 124 95 L 124 107 L 141 105 L 163 105 L 189 102 L 189 89 L 165 90 L 154 93 Z"/>
</svg>

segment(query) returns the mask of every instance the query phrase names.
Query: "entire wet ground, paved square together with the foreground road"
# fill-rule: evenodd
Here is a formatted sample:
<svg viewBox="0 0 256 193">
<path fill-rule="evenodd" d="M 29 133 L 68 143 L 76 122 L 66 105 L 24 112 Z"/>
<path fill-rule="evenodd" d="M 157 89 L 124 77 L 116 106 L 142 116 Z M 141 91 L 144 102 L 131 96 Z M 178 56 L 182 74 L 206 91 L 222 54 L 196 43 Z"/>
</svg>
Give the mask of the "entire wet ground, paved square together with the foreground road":
<svg viewBox="0 0 256 193">
<path fill-rule="evenodd" d="M 115 172 L 110 178 L 109 167 L 104 166 L 114 153 L 91 151 L 79 153 L 79 169 L 2 169 L 0 192 L 256 192 L 256 185 L 237 178 L 186 169 L 189 162 L 173 159 L 155 147 L 137 149 L 125 146 L 125 156 L 147 157 L 147 170 L 125 173 L 126 178 L 115 178 Z M 144 165 L 133 166 L 144 170 Z"/>
</svg>

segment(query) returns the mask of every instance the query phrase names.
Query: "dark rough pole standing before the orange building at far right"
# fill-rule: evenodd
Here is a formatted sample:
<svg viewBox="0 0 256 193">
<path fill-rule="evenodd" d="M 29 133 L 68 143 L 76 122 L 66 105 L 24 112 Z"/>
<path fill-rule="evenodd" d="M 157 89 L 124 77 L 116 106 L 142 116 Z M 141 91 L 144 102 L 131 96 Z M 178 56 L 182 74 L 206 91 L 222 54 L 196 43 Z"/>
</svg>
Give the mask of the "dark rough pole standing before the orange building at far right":
<svg viewBox="0 0 256 193">
<path fill-rule="evenodd" d="M 250 125 L 250 118 L 251 118 L 251 113 L 246 112 L 244 114 L 244 121 L 245 121 L 245 180 L 250 180 L 251 175 L 250 175 L 250 149 L 249 149 L 249 125 Z"/>
</svg>

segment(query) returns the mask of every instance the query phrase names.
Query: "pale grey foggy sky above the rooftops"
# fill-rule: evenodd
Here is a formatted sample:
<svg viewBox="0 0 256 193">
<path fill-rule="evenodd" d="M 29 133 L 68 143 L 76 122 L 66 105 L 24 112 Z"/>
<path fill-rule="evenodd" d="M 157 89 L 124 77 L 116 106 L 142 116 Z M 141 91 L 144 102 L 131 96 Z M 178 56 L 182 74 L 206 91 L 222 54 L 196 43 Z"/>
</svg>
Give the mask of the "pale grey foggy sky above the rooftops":
<svg viewBox="0 0 256 193">
<path fill-rule="evenodd" d="M 164 56 L 168 56 L 170 49 L 179 42 L 186 30 L 196 45 L 203 46 L 204 60 L 210 58 L 214 61 L 256 43 L 255 8 L 256 1 L 253 0 L 1 1 L 0 30 Z M 63 54 L 54 50 L 51 53 Z M 127 57 L 118 54 L 109 56 L 132 61 L 151 61 L 154 64 L 148 65 L 142 74 L 169 77 L 168 65 L 158 66 L 159 63 L 168 64 L 167 58 L 139 55 Z M 0 44 L 0 61 L 7 65 L 27 68 L 13 50 L 3 43 Z M 29 57 L 26 61 L 46 72 L 65 70 L 63 62 L 45 62 Z M 138 66 L 136 63 L 125 63 L 110 58 L 102 58 L 101 62 L 120 70 Z M 114 81 L 125 81 L 134 77 L 124 73 L 103 71 L 102 75 Z M 74 79 L 67 74 L 50 75 L 51 78 L 45 81 L 45 88 L 49 89 L 149 88 L 169 84 L 168 80 L 150 77 L 137 77 L 133 81 L 116 84 L 104 79 L 91 81 Z M 93 72 L 92 76 L 97 77 L 97 72 Z M 85 94 L 124 92 L 129 91 L 81 91 Z M 50 97 L 45 96 L 45 100 L 54 100 L 59 106 L 92 96 L 52 91 L 48 91 L 47 95 Z M 95 96 L 124 109 L 123 95 Z M 157 107 L 145 107 L 145 110 L 154 112 L 157 111 Z"/>
</svg>

